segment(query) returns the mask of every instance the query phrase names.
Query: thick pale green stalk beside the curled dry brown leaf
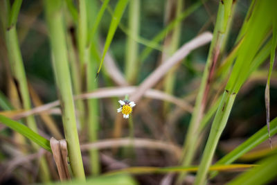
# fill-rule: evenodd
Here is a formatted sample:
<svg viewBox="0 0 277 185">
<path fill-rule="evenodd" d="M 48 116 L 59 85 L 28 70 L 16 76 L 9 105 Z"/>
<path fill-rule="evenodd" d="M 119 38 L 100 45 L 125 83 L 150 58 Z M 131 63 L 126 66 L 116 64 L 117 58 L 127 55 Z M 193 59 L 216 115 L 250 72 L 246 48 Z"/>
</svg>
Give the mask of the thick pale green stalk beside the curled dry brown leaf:
<svg viewBox="0 0 277 185">
<path fill-rule="evenodd" d="M 64 134 L 69 149 L 69 161 L 73 175 L 85 179 L 80 143 L 76 126 L 75 110 L 71 88 L 71 76 L 66 52 L 66 38 L 62 17 L 62 1 L 46 0 L 46 19 L 53 53 L 53 69 L 57 91 L 62 108 Z"/>
</svg>

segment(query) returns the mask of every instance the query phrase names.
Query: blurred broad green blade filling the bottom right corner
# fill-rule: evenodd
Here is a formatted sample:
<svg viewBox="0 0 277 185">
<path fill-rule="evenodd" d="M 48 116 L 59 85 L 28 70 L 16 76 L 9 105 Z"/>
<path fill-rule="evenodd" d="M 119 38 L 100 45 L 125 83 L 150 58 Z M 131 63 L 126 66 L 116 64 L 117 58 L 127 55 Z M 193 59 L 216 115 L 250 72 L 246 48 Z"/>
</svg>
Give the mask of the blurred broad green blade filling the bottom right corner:
<svg viewBox="0 0 277 185">
<path fill-rule="evenodd" d="M 277 176 L 277 155 L 267 157 L 258 163 L 258 166 L 236 177 L 228 185 L 244 184 L 244 185 L 260 185 L 267 184 L 271 179 Z"/>
</svg>

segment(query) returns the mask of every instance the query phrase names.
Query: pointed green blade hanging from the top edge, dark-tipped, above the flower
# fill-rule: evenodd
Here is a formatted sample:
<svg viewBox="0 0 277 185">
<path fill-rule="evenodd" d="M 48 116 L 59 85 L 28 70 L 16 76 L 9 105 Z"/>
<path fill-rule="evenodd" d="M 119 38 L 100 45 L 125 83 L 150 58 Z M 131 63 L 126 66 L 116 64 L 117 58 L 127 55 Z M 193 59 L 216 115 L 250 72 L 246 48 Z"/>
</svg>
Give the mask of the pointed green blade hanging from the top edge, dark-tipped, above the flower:
<svg viewBox="0 0 277 185">
<path fill-rule="evenodd" d="M 100 69 L 101 69 L 102 64 L 104 62 L 105 55 L 106 55 L 106 53 L 109 49 L 109 45 L 111 44 L 111 40 L 114 37 L 114 33 L 116 33 L 116 28 L 118 27 L 118 24 L 120 22 L 121 17 L 123 16 L 123 12 L 124 12 L 128 2 L 129 2 L 129 0 L 119 0 L 118 3 L 116 4 L 116 9 L 114 10 L 114 16 L 111 19 L 111 24 L 109 26 L 109 33 L 107 35 L 107 39 L 106 39 L 105 46 L 104 46 L 104 51 L 102 53 L 100 66 L 99 66 L 98 71 L 96 73 L 96 78 L 98 77 L 98 75 L 100 73 Z"/>
</svg>

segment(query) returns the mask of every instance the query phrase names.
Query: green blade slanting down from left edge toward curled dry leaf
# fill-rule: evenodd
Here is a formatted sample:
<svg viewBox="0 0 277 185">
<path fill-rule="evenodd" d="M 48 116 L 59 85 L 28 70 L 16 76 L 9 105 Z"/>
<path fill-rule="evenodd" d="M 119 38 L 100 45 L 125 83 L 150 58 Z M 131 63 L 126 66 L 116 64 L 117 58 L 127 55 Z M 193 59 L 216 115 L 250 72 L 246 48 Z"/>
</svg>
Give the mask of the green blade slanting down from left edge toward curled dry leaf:
<svg viewBox="0 0 277 185">
<path fill-rule="evenodd" d="M 1 114 L 0 114 L 0 122 L 6 125 L 7 127 L 10 127 L 12 130 L 15 130 L 16 132 L 19 132 L 20 134 L 26 136 L 26 138 L 37 143 L 45 150 L 48 150 L 49 152 L 51 152 L 50 142 L 44 137 L 34 132 L 33 130 L 31 130 L 30 128 L 26 127 L 25 125 L 17 121 L 13 121 L 12 119 L 7 118 L 6 116 L 3 116 Z"/>
</svg>

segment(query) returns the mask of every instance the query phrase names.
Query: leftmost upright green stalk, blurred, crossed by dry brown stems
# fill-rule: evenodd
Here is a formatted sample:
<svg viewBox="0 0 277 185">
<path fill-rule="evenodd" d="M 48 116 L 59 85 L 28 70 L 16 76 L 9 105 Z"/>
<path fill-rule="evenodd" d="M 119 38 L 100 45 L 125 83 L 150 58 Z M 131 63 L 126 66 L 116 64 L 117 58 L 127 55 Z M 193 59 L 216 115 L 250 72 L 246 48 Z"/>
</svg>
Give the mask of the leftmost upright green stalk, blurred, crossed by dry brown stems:
<svg viewBox="0 0 277 185">
<path fill-rule="evenodd" d="M 14 78 L 15 83 L 19 87 L 19 94 L 22 100 L 22 107 L 28 110 L 31 109 L 30 96 L 28 92 L 26 73 L 24 69 L 24 63 L 19 47 L 19 41 L 17 38 L 16 30 L 17 16 L 21 8 L 21 3 L 21 0 L 15 1 L 12 5 L 12 9 L 10 10 L 10 12 L 9 10 L 7 11 L 8 22 L 6 22 L 6 25 L 3 22 L 3 28 L 6 29 L 6 45 L 8 49 L 10 68 L 12 70 L 12 77 Z M 37 125 L 35 123 L 34 116 L 26 117 L 25 121 L 31 130 L 37 132 Z M 39 150 L 39 146 L 37 146 L 35 143 L 32 142 L 32 145 L 33 148 L 35 148 L 35 150 Z M 40 159 L 39 177 L 40 179 L 42 179 L 42 182 L 49 182 L 51 179 L 45 157 L 42 157 Z"/>
</svg>

